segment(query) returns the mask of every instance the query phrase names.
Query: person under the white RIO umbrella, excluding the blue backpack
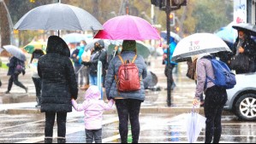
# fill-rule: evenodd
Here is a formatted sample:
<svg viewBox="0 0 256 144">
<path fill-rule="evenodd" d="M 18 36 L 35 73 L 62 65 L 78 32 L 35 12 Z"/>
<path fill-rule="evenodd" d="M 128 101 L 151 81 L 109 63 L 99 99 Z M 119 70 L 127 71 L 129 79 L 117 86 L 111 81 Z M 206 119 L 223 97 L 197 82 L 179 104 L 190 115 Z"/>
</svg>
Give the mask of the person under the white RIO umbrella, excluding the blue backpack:
<svg viewBox="0 0 256 144">
<path fill-rule="evenodd" d="M 226 89 L 215 85 L 208 79 L 215 78 L 211 60 L 207 59 L 209 56 L 211 57 L 211 55 L 202 54 L 199 55 L 197 60 L 197 87 L 193 105 L 199 104 L 200 95 L 205 91 L 204 107 L 205 118 L 207 118 L 205 143 L 211 143 L 212 138 L 213 143 L 219 143 L 222 134 L 222 112 L 225 103 L 228 101 L 228 95 Z"/>
</svg>

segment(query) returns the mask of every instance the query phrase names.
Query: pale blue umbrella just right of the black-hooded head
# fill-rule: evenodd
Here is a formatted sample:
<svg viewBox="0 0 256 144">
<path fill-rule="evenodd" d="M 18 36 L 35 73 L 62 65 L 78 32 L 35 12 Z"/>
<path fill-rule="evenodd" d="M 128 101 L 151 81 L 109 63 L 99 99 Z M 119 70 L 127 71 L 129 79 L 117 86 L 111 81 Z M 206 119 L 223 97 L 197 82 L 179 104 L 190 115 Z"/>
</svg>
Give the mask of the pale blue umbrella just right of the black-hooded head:
<svg viewBox="0 0 256 144">
<path fill-rule="evenodd" d="M 86 40 L 86 35 L 80 33 L 69 33 L 63 36 L 63 40 L 66 43 L 80 43 L 80 41 Z"/>
</svg>

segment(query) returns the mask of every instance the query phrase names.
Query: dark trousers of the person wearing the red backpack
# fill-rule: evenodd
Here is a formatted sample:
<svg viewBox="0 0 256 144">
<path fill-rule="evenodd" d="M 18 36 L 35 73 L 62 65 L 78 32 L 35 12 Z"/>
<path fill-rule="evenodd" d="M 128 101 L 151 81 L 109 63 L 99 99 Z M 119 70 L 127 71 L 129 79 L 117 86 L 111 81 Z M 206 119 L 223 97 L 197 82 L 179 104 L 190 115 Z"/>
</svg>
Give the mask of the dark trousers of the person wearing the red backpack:
<svg viewBox="0 0 256 144">
<path fill-rule="evenodd" d="M 139 142 L 140 137 L 140 105 L 139 100 L 116 100 L 116 109 L 119 117 L 119 133 L 122 143 L 128 143 L 128 120 L 132 126 L 133 143 Z"/>
</svg>

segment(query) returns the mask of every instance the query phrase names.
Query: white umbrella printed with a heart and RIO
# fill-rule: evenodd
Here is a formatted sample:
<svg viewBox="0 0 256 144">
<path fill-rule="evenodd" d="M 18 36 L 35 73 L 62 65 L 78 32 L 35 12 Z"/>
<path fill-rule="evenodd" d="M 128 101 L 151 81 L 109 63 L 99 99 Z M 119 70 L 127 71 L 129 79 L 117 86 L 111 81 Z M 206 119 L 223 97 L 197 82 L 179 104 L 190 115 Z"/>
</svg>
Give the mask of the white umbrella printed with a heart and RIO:
<svg viewBox="0 0 256 144">
<path fill-rule="evenodd" d="M 211 33 L 196 33 L 183 38 L 176 46 L 172 60 L 182 62 L 191 60 L 191 56 L 205 53 L 229 51 L 229 46 L 220 37 Z"/>
</svg>

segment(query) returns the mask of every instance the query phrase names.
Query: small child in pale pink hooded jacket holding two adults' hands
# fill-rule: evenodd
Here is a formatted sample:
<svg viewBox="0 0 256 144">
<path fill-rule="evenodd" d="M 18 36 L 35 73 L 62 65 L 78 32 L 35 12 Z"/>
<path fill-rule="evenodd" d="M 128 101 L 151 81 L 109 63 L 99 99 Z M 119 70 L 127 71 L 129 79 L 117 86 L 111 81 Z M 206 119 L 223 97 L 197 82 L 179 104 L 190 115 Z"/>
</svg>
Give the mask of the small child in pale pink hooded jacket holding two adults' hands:
<svg viewBox="0 0 256 144">
<path fill-rule="evenodd" d="M 92 143 L 93 138 L 95 143 L 102 143 L 102 115 L 104 111 L 109 111 L 115 103 L 115 101 L 110 100 L 106 104 L 100 98 L 101 92 L 98 87 L 91 86 L 86 91 L 86 100 L 82 105 L 78 105 L 76 101 L 72 100 L 72 105 L 76 111 L 85 112 L 86 143 Z"/>
</svg>

